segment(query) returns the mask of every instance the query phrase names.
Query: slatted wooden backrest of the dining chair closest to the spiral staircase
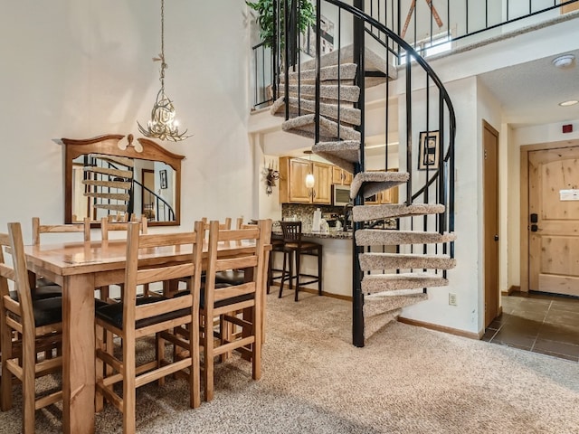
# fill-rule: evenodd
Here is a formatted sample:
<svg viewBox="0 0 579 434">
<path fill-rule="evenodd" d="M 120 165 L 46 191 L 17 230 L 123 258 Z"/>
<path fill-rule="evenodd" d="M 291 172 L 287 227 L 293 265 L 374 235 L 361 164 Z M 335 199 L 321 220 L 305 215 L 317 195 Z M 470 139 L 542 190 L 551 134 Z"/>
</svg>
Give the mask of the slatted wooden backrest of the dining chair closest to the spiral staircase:
<svg viewBox="0 0 579 434">
<path fill-rule="evenodd" d="M 244 253 L 237 254 L 234 258 L 221 257 L 218 255 L 219 244 L 227 242 L 242 243 L 242 241 L 254 241 L 252 248 Z M 215 300 L 215 273 L 227 269 L 252 269 L 251 278 L 246 278 L 241 285 L 218 289 L 223 297 L 231 294 L 235 288 L 245 294 L 255 293 L 264 283 L 264 267 L 266 250 L 265 246 L 271 241 L 271 220 L 261 220 L 256 226 L 247 229 L 221 230 L 219 222 L 210 223 L 207 271 L 205 278 L 204 307 L 213 309 Z M 247 274 L 247 273 L 246 273 Z M 222 296 L 217 296 L 222 297 Z"/>
</svg>

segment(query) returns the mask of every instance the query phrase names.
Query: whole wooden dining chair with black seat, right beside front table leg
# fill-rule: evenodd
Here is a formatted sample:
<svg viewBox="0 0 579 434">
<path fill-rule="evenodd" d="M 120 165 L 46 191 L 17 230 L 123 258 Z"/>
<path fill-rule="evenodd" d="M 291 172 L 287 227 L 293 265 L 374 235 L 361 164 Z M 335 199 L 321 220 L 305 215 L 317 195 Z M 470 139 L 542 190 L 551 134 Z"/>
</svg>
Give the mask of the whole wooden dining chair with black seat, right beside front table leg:
<svg viewBox="0 0 579 434">
<path fill-rule="evenodd" d="M 123 413 L 123 432 L 135 432 L 136 389 L 166 375 L 185 371 L 189 379 L 190 406 L 201 403 L 199 385 L 199 304 L 201 286 L 201 259 L 203 225 L 195 222 L 195 231 L 164 234 L 139 234 L 138 222 L 128 223 L 127 267 L 125 269 L 124 297 L 122 302 L 96 309 L 96 408 L 101 410 L 103 399 L 111 402 Z M 193 254 L 185 255 L 185 263 L 171 263 L 147 268 L 147 259 L 158 250 L 183 250 L 191 245 Z M 141 259 L 139 259 L 139 255 Z M 137 297 L 137 287 L 149 282 L 188 276 L 191 291 L 182 297 Z M 185 325 L 188 325 L 185 327 Z M 160 333 L 183 326 L 188 330 L 184 339 L 171 341 L 181 345 L 187 357 L 168 360 L 166 340 Z M 121 354 L 107 351 L 103 342 L 106 332 L 119 336 Z M 156 337 L 156 360 L 137 365 L 136 341 L 153 335 Z M 107 373 L 107 366 L 114 372 Z M 122 382 L 122 393 L 115 385 Z"/>
</svg>

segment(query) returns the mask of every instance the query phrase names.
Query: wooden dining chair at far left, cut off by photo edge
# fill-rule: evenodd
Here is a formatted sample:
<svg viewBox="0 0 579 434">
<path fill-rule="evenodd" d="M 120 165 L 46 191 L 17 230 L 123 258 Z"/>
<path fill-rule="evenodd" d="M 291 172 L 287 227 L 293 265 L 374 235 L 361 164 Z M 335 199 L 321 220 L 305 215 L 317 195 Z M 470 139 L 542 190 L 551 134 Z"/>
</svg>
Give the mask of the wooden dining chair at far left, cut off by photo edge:
<svg viewBox="0 0 579 434">
<path fill-rule="evenodd" d="M 5 248 L 12 255 L 12 266 L 5 261 Z M 9 281 L 15 295 L 9 291 Z M 0 233 L 0 321 L 1 407 L 12 408 L 15 378 L 23 389 L 23 432 L 33 433 L 34 411 L 62 400 L 62 390 L 37 396 L 34 385 L 35 378 L 62 369 L 61 355 L 43 356 L 62 344 L 62 297 L 33 299 L 20 223 L 8 223 L 8 233 Z"/>
</svg>

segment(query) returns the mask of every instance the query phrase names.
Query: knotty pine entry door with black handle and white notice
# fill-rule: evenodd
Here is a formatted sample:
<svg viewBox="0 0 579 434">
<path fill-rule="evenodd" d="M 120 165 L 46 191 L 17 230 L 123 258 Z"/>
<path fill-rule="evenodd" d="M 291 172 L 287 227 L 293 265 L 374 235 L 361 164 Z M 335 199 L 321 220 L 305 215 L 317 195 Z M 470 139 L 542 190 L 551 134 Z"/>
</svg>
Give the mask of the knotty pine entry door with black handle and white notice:
<svg viewBox="0 0 579 434">
<path fill-rule="evenodd" d="M 530 290 L 579 296 L 579 146 L 528 153 Z"/>
</svg>

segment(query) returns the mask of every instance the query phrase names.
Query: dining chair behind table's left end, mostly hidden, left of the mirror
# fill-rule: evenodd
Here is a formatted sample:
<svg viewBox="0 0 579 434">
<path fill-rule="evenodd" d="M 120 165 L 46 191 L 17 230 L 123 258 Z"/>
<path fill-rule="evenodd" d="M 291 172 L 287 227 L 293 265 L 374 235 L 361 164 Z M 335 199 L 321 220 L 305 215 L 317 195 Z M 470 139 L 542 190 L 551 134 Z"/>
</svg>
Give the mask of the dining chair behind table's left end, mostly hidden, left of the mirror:
<svg viewBox="0 0 579 434">
<path fill-rule="evenodd" d="M 82 233 L 82 241 L 90 241 L 90 219 L 85 217 L 82 223 L 65 223 L 65 224 L 41 224 L 39 217 L 33 217 L 33 245 L 41 245 L 43 234 L 65 234 L 65 233 Z M 62 288 L 56 283 L 43 276 L 31 277 L 30 286 L 34 298 L 61 297 Z"/>
</svg>

